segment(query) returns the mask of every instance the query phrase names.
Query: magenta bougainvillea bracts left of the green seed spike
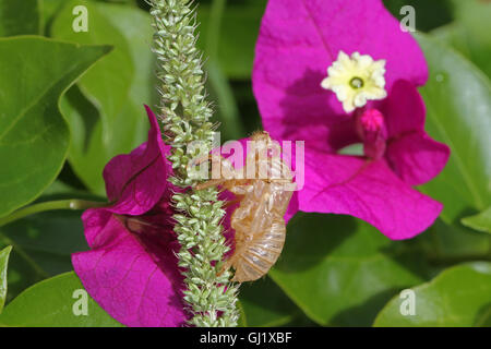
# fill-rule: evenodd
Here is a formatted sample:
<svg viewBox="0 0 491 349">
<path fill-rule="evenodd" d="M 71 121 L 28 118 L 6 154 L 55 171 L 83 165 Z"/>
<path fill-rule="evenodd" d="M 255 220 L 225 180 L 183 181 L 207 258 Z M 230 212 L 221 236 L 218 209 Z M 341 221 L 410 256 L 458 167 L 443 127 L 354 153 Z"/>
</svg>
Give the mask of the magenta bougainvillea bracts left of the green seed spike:
<svg viewBox="0 0 491 349">
<path fill-rule="evenodd" d="M 87 292 L 128 326 L 180 326 L 185 321 L 167 182 L 171 167 L 157 119 L 146 107 L 148 141 L 104 169 L 111 205 L 83 216 L 91 251 L 72 255 Z"/>
</svg>

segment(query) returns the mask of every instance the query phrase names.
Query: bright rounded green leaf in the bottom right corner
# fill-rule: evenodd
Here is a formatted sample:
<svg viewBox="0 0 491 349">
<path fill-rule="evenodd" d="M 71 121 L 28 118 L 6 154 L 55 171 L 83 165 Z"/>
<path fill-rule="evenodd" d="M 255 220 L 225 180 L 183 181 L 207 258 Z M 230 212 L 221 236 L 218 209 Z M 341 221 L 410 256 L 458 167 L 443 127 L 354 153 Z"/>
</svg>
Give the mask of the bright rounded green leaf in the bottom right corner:
<svg viewBox="0 0 491 349">
<path fill-rule="evenodd" d="M 491 263 L 448 268 L 412 290 L 415 315 L 402 315 L 406 299 L 397 296 L 380 312 L 374 326 L 482 326 L 491 314 Z"/>
</svg>

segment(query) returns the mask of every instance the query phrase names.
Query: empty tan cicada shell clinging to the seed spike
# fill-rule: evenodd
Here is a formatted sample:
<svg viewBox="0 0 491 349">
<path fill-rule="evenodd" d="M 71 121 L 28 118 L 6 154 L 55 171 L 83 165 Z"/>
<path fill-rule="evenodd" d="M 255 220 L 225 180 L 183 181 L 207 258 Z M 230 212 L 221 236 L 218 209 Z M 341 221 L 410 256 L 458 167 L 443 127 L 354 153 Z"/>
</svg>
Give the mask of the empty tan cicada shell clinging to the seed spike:
<svg viewBox="0 0 491 349">
<path fill-rule="evenodd" d="M 219 185 L 233 193 L 240 203 L 230 218 L 236 232 L 235 251 L 220 270 L 233 267 L 232 281 L 238 282 L 259 279 L 278 260 L 285 244 L 284 216 L 296 185 L 290 168 L 280 157 L 279 144 L 267 132 L 254 133 L 251 141 L 254 152 L 249 154 L 248 148 L 247 176 L 213 179 L 196 185 L 197 190 Z M 220 161 L 223 173 L 237 173 L 229 161 Z M 241 170 L 244 174 L 246 168 Z"/>
</svg>

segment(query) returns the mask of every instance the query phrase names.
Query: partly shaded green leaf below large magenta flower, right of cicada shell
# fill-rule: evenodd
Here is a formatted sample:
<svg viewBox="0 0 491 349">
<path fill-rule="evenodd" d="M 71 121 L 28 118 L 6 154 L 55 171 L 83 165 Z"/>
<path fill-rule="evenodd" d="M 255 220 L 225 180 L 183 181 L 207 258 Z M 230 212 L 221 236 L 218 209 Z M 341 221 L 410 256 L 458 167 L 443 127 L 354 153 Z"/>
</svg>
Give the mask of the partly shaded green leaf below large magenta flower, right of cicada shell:
<svg viewBox="0 0 491 349">
<path fill-rule="evenodd" d="M 430 277 L 411 250 L 354 217 L 299 213 L 270 276 L 316 323 L 369 326 L 394 293 Z"/>
</svg>

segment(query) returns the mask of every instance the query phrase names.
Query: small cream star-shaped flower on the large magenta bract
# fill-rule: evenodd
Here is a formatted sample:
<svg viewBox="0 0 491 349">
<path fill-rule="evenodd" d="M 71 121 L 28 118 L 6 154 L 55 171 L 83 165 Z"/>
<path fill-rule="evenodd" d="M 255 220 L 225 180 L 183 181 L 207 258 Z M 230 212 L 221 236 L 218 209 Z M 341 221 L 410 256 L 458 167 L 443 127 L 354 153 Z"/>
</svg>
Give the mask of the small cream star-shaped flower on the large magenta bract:
<svg viewBox="0 0 491 349">
<path fill-rule="evenodd" d="M 351 58 L 339 51 L 337 60 L 327 69 L 321 83 L 336 94 L 346 112 L 363 107 L 368 100 L 384 99 L 385 60 L 374 61 L 368 55 L 354 52 Z"/>
</svg>

